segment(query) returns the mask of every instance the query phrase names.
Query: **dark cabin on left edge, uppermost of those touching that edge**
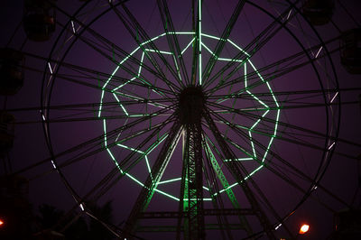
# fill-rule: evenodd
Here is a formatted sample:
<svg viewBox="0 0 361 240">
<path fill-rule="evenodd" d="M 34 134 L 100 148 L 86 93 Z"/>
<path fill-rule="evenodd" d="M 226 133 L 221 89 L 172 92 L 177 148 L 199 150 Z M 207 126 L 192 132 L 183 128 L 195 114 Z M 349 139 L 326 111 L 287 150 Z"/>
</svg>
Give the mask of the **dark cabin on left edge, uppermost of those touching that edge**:
<svg viewBox="0 0 361 240">
<path fill-rule="evenodd" d="M 0 94 L 14 95 L 23 87 L 24 57 L 20 51 L 0 49 Z"/>
</svg>

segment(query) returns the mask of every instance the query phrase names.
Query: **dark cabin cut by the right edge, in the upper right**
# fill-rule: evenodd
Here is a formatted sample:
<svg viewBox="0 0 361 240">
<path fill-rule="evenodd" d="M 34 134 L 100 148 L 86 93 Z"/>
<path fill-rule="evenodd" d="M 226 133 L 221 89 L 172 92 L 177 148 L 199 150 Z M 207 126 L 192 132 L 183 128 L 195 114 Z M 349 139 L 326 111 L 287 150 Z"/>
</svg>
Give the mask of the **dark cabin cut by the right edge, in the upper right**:
<svg viewBox="0 0 361 240">
<path fill-rule="evenodd" d="M 341 34 L 341 64 L 349 73 L 361 73 L 361 28 Z"/>
</svg>

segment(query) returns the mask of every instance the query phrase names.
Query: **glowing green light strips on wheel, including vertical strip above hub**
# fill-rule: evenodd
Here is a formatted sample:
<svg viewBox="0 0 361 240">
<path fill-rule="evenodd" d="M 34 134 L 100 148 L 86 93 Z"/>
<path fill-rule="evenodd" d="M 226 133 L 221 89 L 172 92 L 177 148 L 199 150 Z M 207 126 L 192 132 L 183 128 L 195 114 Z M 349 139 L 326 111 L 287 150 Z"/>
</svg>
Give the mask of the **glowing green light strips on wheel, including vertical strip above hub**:
<svg viewBox="0 0 361 240">
<path fill-rule="evenodd" d="M 200 11 L 200 9 L 199 9 Z M 208 34 L 205 34 L 203 32 L 201 32 L 201 28 L 200 28 L 200 23 L 201 23 L 201 19 L 199 18 L 199 85 L 202 84 L 202 79 L 201 79 L 201 49 L 203 48 L 204 50 L 208 51 L 211 55 L 215 55 L 213 53 L 213 51 L 211 51 L 209 48 L 208 48 L 208 45 L 206 42 L 208 41 L 219 41 L 220 38 L 219 37 L 216 37 L 216 36 L 212 36 L 212 35 L 208 35 Z M 99 105 L 99 108 L 98 108 L 98 117 L 101 117 L 102 116 L 102 106 L 103 106 L 103 101 L 104 101 L 104 97 L 105 97 L 105 94 L 106 94 L 106 87 L 109 85 L 109 82 L 112 80 L 113 76 L 116 75 L 116 72 L 119 68 L 122 68 L 122 65 L 126 62 L 126 60 L 128 60 L 130 57 L 134 57 L 134 54 L 137 53 L 137 52 L 140 52 L 140 51 L 143 51 L 141 52 L 141 60 L 140 60 L 140 65 L 137 66 L 137 72 L 135 74 L 135 76 L 133 76 L 132 78 L 130 78 L 129 80 L 127 80 L 125 83 L 122 83 L 122 84 L 119 84 L 118 86 L 116 86 L 116 88 L 113 88 L 111 93 L 112 93 L 112 96 L 116 99 L 116 101 L 118 102 L 120 108 L 122 109 L 122 111 L 125 113 L 125 115 L 129 116 L 129 117 L 135 117 L 135 116 L 143 116 L 143 115 L 148 115 L 148 114 L 132 114 L 130 115 L 129 114 L 129 111 L 128 109 L 126 109 L 126 106 L 122 105 L 122 102 L 121 100 L 118 98 L 119 96 L 121 97 L 125 97 L 127 99 L 130 99 L 130 100 L 134 100 L 134 101 L 138 101 L 140 100 L 141 98 L 139 97 L 136 97 L 136 96 L 133 96 L 129 93 L 124 93 L 122 92 L 122 88 L 125 88 L 125 86 L 127 86 L 129 83 L 131 83 L 132 81 L 134 80 L 140 80 L 142 82 L 142 84 L 144 84 L 144 86 L 149 86 L 150 84 L 148 82 L 146 82 L 143 77 L 142 77 L 142 66 L 143 66 L 143 60 L 144 60 L 144 51 L 149 51 L 149 52 L 155 52 L 155 50 L 153 49 L 149 49 L 149 48 L 142 48 L 142 46 L 144 44 L 147 44 L 148 42 L 156 42 L 157 40 L 160 40 L 162 39 L 162 37 L 166 36 L 166 34 L 176 34 L 176 35 L 183 35 L 183 36 L 189 36 L 190 37 L 190 41 L 187 42 L 187 44 L 184 46 L 184 48 L 182 49 L 181 54 L 183 55 L 186 51 L 191 51 L 190 50 L 190 46 L 192 46 L 192 43 L 195 41 L 196 39 L 196 33 L 195 32 L 167 32 L 167 33 L 162 33 L 156 37 L 153 37 L 151 40 L 149 41 L 146 41 L 146 42 L 143 42 L 142 44 L 140 44 L 140 46 L 138 46 L 137 48 L 135 48 L 134 51 L 132 51 L 128 56 L 125 57 L 124 60 L 121 60 L 119 63 L 118 63 L 118 66 L 116 67 L 116 69 L 112 72 L 111 76 L 106 80 L 106 82 L 104 83 L 103 87 L 102 87 L 102 92 L 101 92 L 101 97 L 100 97 L 100 105 Z M 203 39 L 203 41 L 202 41 Z M 269 149 L 273 143 L 273 139 L 274 137 L 276 136 L 277 134 L 277 128 L 278 128 L 278 120 L 279 120 L 279 117 L 280 117 L 280 105 L 279 103 L 277 102 L 277 99 L 276 97 L 273 95 L 273 90 L 269 84 L 269 82 L 267 81 L 264 81 L 264 78 L 261 76 L 261 74 L 258 72 L 258 70 L 255 68 L 255 65 L 252 63 L 251 60 L 249 60 L 249 57 L 250 55 L 245 52 L 242 48 L 240 48 L 239 46 L 236 45 L 235 42 L 232 42 L 230 40 L 223 40 L 223 41 L 227 41 L 227 43 L 229 43 L 231 46 L 233 46 L 234 48 L 236 48 L 236 51 L 242 51 L 245 53 L 245 56 L 246 56 L 246 59 L 245 60 L 233 60 L 233 59 L 229 59 L 229 58 L 217 58 L 217 60 L 219 61 L 234 61 L 234 62 L 239 62 L 240 66 L 243 64 L 244 65 L 244 76 L 245 76 L 245 94 L 249 95 L 250 97 L 253 97 L 253 99 L 255 99 L 256 102 L 258 102 L 261 106 L 263 107 L 260 107 L 260 111 L 264 111 L 264 113 L 262 115 L 260 115 L 257 119 L 255 119 L 255 123 L 249 127 L 247 126 L 241 126 L 241 125 L 236 125 L 237 127 L 241 128 L 241 129 L 244 129 L 248 136 L 249 136 L 249 140 L 250 140 L 250 145 L 252 147 L 252 150 L 250 150 L 250 152 L 246 152 L 242 147 L 240 147 L 239 145 L 237 145 L 236 143 L 230 143 L 232 145 L 234 145 L 237 149 L 239 149 L 240 151 L 242 152 L 245 152 L 245 155 L 246 157 L 242 157 L 242 158 L 238 158 L 234 161 L 241 161 L 241 162 L 248 162 L 248 161 L 254 161 L 255 159 L 258 160 L 258 162 L 264 162 L 265 159 L 266 159 L 266 156 L 269 152 Z M 171 52 L 171 51 L 161 51 L 161 50 L 157 50 L 156 52 L 160 53 L 160 54 L 164 54 L 164 55 L 172 55 L 173 58 L 175 58 L 174 54 Z M 174 60 L 175 64 L 177 64 L 176 60 Z M 238 63 L 236 63 L 238 64 Z M 175 69 L 177 69 L 177 72 L 180 76 L 180 69 L 179 69 L 179 66 L 176 65 L 174 66 Z M 255 71 L 256 75 L 258 76 L 258 78 L 261 79 L 261 81 L 264 82 L 264 85 L 268 88 L 268 90 L 270 91 L 271 93 L 271 96 L 272 96 L 272 99 L 274 101 L 274 104 L 277 106 L 277 110 L 271 110 L 270 107 L 264 103 L 264 101 L 262 99 L 260 99 L 259 97 L 256 97 L 251 89 L 248 89 L 247 88 L 247 84 L 248 84 L 248 79 L 247 79 L 247 71 L 248 69 L 252 69 L 253 71 Z M 180 78 L 181 79 L 181 78 Z M 159 90 L 155 91 L 153 90 L 154 93 L 160 95 L 160 96 L 164 96 L 164 93 L 160 92 Z M 239 93 L 237 94 L 241 94 L 242 92 L 240 91 Z M 222 98 L 220 97 L 218 100 L 217 100 L 217 103 L 218 104 L 221 104 L 225 101 L 227 101 L 228 99 L 225 98 Z M 160 103 L 155 103 L 155 102 L 148 102 L 148 105 L 150 106 L 156 106 L 156 107 L 161 107 L 161 108 L 164 108 L 164 107 L 167 107 L 167 105 L 164 105 L 164 104 L 160 104 Z M 262 118 L 265 116 L 265 115 L 269 115 L 269 113 L 271 111 L 275 111 L 275 124 L 274 124 L 274 128 L 273 128 L 273 134 L 267 134 L 265 135 L 266 137 L 269 137 L 269 141 L 267 143 L 267 148 L 266 150 L 264 151 L 264 154 L 263 156 L 260 156 L 259 155 L 259 152 L 258 152 L 258 155 L 257 155 L 257 151 L 256 151 L 256 146 L 255 146 L 255 143 L 253 141 L 253 138 L 255 137 L 254 134 L 258 135 L 259 133 L 255 130 L 255 128 L 262 122 Z M 231 114 L 229 111 L 223 111 L 223 110 L 220 110 L 220 111 L 216 111 L 218 112 L 218 114 Z M 153 116 L 153 117 L 157 117 L 157 115 Z M 269 116 L 268 116 L 269 117 Z M 145 123 L 146 121 L 144 121 L 144 125 L 149 125 L 148 122 Z M 221 124 L 221 123 L 218 123 L 218 124 Z M 223 123 L 225 124 L 225 123 Z M 110 158 L 112 159 L 112 161 L 116 164 L 116 167 L 118 168 L 118 170 L 121 172 L 121 173 L 124 173 L 124 171 L 120 168 L 118 162 L 116 161 L 116 157 L 114 156 L 114 152 L 112 152 L 112 150 L 110 148 L 108 148 L 108 143 L 107 143 L 107 136 L 106 136 L 106 119 L 103 119 L 103 130 L 104 130 L 104 146 L 106 148 L 106 151 L 108 152 Z M 149 162 L 149 159 L 148 159 L 148 154 L 150 152 L 152 152 L 155 148 L 157 148 L 162 142 L 163 140 L 165 140 L 165 138 L 168 136 L 168 134 L 163 134 L 162 136 L 160 136 L 160 138 L 151 145 L 151 147 L 149 147 L 146 151 L 140 151 L 140 150 L 136 150 L 134 147 L 131 147 L 131 146 L 127 146 L 125 143 L 121 143 L 121 142 L 116 142 L 116 147 L 113 147 L 113 149 L 116 149 L 116 148 L 123 148 L 123 149 L 126 149 L 126 150 L 129 150 L 129 151 L 135 151 L 137 152 L 138 154 L 141 154 L 143 155 L 143 158 L 144 158 L 144 162 L 145 162 L 145 165 L 146 165 L 146 170 L 144 171 L 147 171 L 148 173 L 152 173 L 152 166 Z M 119 136 L 118 136 L 119 137 Z M 117 138 L 116 138 L 117 139 Z M 116 140 L 117 141 L 117 140 Z M 211 153 L 210 149 L 208 149 L 209 153 Z M 231 160 L 223 160 L 223 162 L 228 162 L 228 161 L 231 161 Z M 222 163 L 222 162 L 221 162 Z M 216 164 L 217 165 L 217 164 Z M 219 164 L 219 165 L 222 165 L 222 164 Z M 248 176 L 245 177 L 245 180 L 248 179 L 250 176 L 253 176 L 255 174 L 255 172 L 261 170 L 263 168 L 263 164 L 260 164 L 258 167 L 255 168 L 255 170 L 251 171 L 249 173 Z M 218 171 L 220 172 L 221 169 L 219 168 Z M 129 174 L 129 173 L 125 173 L 125 176 L 128 177 L 130 180 L 134 180 L 134 182 L 136 182 L 137 184 L 139 184 L 140 186 L 143 187 L 143 183 L 136 179 L 135 176 Z M 160 182 L 158 182 L 158 185 L 157 186 L 160 186 L 160 185 L 166 185 L 166 184 L 170 184 L 172 182 L 177 182 L 179 181 L 180 182 L 180 177 L 178 178 L 173 178 L 173 179 L 169 179 L 169 180 L 162 180 Z M 229 195 L 230 194 L 230 189 L 234 188 L 237 183 L 233 183 L 233 184 L 228 184 L 227 183 L 227 180 L 224 180 L 224 189 L 221 189 L 219 190 L 217 194 L 220 194 L 222 192 L 227 192 L 227 194 Z M 203 186 L 203 189 L 206 189 L 208 190 L 207 187 Z M 162 191 L 160 189 L 155 189 L 156 192 L 162 194 L 163 196 L 167 197 L 167 198 L 171 198 L 173 200 L 176 200 L 176 201 L 179 201 L 180 199 L 179 198 L 176 198 L 174 197 L 173 195 L 171 195 L 170 193 L 168 192 L 165 192 L 165 191 Z M 186 201 L 188 199 L 185 199 Z M 211 200 L 211 198 L 203 198 L 203 200 Z"/>
</svg>

